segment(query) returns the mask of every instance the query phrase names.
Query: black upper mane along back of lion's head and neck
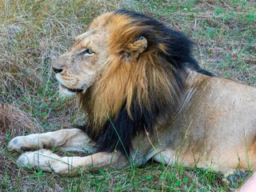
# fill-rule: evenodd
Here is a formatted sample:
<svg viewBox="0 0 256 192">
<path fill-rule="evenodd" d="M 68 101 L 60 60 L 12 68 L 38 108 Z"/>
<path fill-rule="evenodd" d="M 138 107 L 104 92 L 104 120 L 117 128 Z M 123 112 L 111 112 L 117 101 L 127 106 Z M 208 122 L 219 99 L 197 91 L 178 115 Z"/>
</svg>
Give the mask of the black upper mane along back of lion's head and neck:
<svg viewBox="0 0 256 192">
<path fill-rule="evenodd" d="M 164 58 L 168 61 L 166 64 L 174 65 L 177 69 L 183 70 L 184 67 L 190 68 L 191 70 L 196 70 L 198 73 L 206 74 L 208 76 L 214 76 L 207 70 L 202 69 L 198 62 L 194 59 L 192 55 L 193 42 L 190 41 L 184 34 L 181 32 L 171 30 L 167 26 L 163 25 L 162 22 L 154 18 L 150 18 L 145 14 L 139 14 L 130 10 L 117 10 L 115 14 L 126 14 L 131 18 L 135 19 L 135 22 L 140 22 L 141 26 L 153 26 L 154 30 L 158 32 L 159 36 L 162 36 L 163 44 L 167 47 L 166 53 L 162 54 Z M 150 34 L 151 36 L 154 34 Z M 154 42 L 161 42 L 160 39 L 155 38 Z M 153 46 L 153 45 L 152 45 Z"/>
</svg>

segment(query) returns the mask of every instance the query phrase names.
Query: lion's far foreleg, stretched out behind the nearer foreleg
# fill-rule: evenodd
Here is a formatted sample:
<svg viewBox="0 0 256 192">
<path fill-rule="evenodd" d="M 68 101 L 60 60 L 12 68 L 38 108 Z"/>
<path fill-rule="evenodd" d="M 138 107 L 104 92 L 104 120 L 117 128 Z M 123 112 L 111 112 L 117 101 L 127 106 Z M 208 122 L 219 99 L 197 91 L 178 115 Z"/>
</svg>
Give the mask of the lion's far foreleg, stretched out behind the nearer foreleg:
<svg viewBox="0 0 256 192">
<path fill-rule="evenodd" d="M 45 134 L 30 134 L 18 136 L 10 140 L 10 150 L 37 150 L 59 147 L 61 150 L 81 151 L 89 154 L 94 153 L 94 143 L 82 130 L 65 129 Z"/>
</svg>

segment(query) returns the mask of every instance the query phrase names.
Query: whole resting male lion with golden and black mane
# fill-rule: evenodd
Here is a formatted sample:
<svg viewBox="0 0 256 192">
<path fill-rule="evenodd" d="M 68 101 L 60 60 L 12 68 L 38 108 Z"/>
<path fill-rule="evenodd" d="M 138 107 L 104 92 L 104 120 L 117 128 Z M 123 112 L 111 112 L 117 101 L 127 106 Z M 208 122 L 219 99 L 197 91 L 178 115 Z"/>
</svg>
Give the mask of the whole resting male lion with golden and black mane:
<svg viewBox="0 0 256 192">
<path fill-rule="evenodd" d="M 13 138 L 10 150 L 32 150 L 18 165 L 76 174 L 154 159 L 223 174 L 254 170 L 256 89 L 202 69 L 192 46 L 144 14 L 95 18 L 52 63 L 60 93 L 78 98 L 86 125 Z M 54 147 L 86 156 L 60 157 Z"/>
</svg>

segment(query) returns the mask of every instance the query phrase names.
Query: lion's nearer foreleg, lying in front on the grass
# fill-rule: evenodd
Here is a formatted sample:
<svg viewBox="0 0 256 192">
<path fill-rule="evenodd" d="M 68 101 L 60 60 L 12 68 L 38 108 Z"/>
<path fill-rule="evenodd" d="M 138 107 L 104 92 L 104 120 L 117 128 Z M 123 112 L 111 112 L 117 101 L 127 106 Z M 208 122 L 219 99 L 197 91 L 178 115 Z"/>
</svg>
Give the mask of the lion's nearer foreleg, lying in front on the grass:
<svg viewBox="0 0 256 192">
<path fill-rule="evenodd" d="M 57 174 L 77 174 L 79 170 L 92 171 L 129 165 L 120 152 L 101 152 L 86 157 L 59 157 L 50 150 L 26 152 L 18 158 L 17 163 L 19 166 L 54 171 Z"/>
</svg>

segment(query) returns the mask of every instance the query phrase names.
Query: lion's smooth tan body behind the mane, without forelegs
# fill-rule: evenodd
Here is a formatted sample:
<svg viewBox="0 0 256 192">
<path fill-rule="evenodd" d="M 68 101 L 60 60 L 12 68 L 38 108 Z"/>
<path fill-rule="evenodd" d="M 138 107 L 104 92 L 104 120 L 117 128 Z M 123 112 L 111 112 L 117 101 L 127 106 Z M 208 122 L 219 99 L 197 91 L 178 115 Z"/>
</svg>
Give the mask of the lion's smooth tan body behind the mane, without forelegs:
<svg viewBox="0 0 256 192">
<path fill-rule="evenodd" d="M 167 146 L 154 159 L 166 156 L 166 162 L 170 158 L 175 162 L 176 158 L 185 166 L 221 173 L 254 170 L 256 89 L 223 78 L 195 75 L 198 79 L 189 82 L 194 94 L 174 122 L 159 133 L 160 141 Z"/>
</svg>

